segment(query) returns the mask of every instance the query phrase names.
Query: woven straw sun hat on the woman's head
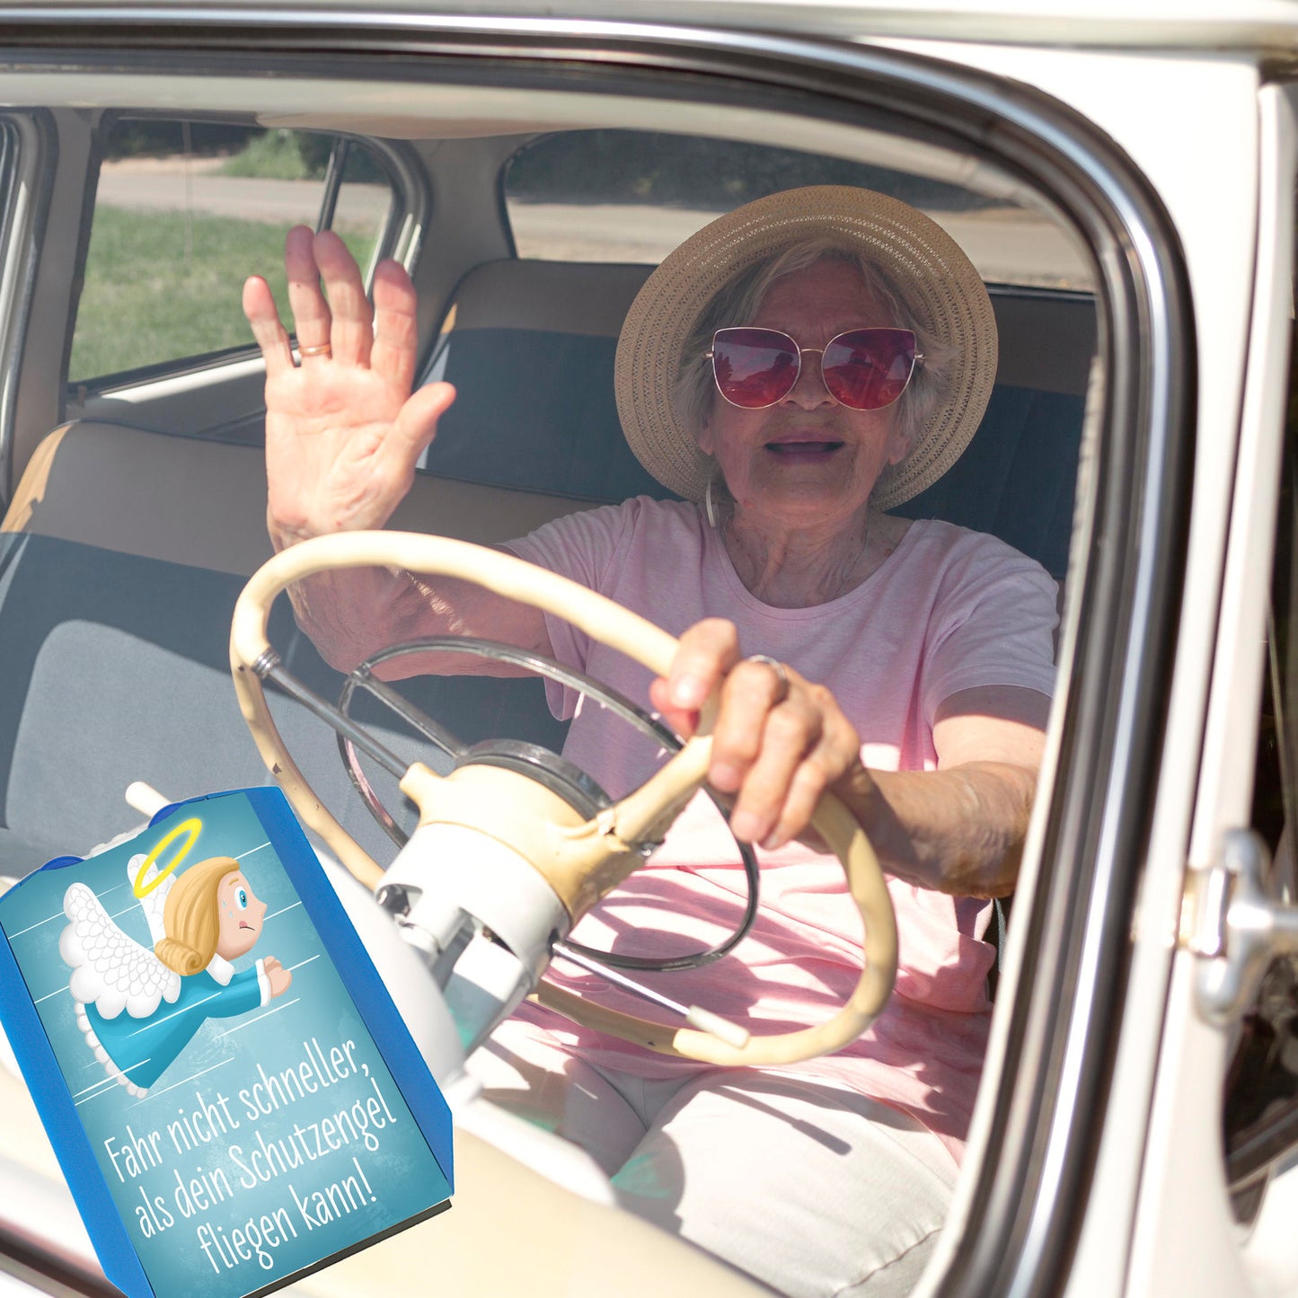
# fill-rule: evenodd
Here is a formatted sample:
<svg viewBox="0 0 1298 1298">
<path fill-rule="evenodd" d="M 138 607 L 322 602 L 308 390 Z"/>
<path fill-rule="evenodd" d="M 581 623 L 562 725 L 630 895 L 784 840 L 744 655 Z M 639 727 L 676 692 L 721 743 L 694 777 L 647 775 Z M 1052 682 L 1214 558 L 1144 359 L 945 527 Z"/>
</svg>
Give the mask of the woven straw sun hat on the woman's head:
<svg viewBox="0 0 1298 1298">
<path fill-rule="evenodd" d="M 627 441 L 658 482 L 687 500 L 704 498 L 715 466 L 672 406 L 685 339 L 739 273 L 826 236 L 864 253 L 950 349 L 946 396 L 906 458 L 880 476 L 876 506 L 918 496 L 974 436 L 992 395 L 997 347 L 992 301 L 968 257 L 941 226 L 887 195 L 837 184 L 785 190 L 719 217 L 670 253 L 631 304 L 618 339 L 614 384 Z"/>
</svg>

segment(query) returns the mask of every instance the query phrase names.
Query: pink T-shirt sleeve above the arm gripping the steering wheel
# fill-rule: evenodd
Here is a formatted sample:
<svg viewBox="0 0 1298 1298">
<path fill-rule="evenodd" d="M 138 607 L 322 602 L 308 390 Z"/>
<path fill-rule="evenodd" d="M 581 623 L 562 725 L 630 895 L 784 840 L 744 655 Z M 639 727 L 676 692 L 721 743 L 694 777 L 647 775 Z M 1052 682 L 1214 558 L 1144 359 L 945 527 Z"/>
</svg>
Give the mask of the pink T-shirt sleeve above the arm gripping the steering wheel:
<svg viewBox="0 0 1298 1298">
<path fill-rule="evenodd" d="M 1040 563 L 970 533 L 942 578 L 923 666 L 929 723 L 962 689 L 1014 685 L 1054 693 L 1058 585 Z"/>
</svg>

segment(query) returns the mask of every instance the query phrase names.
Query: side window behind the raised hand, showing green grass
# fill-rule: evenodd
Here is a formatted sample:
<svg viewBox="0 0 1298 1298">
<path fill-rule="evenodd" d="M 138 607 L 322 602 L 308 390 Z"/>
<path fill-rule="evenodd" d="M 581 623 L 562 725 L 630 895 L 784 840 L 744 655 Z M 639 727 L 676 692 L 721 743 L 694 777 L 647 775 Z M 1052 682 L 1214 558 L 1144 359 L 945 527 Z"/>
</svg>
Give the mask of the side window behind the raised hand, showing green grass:
<svg viewBox="0 0 1298 1298">
<path fill-rule="evenodd" d="M 340 182 L 327 186 L 340 145 Z M 369 266 L 392 202 L 376 156 L 356 141 L 212 122 L 117 121 L 100 167 L 69 380 L 249 347 L 241 286 L 252 270 L 267 273 L 284 301 L 288 227 L 318 226 L 323 212 Z"/>
</svg>

